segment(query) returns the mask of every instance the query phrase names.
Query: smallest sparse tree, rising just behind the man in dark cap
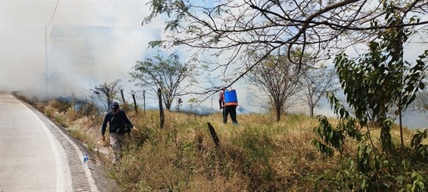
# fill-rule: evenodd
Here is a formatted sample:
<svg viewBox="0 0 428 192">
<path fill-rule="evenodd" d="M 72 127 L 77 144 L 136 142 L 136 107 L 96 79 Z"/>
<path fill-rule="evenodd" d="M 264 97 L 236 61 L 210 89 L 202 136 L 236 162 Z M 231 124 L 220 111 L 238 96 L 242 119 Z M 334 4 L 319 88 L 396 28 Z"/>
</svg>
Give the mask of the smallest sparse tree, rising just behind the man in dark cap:
<svg viewBox="0 0 428 192">
<path fill-rule="evenodd" d="M 94 89 L 90 89 L 98 98 L 102 99 L 105 104 L 107 104 L 107 111 L 109 105 L 112 104 L 114 99 L 119 99 L 119 93 L 122 86 L 119 85 L 121 79 L 117 79 L 112 83 L 102 83 L 98 86 L 95 86 Z"/>
</svg>

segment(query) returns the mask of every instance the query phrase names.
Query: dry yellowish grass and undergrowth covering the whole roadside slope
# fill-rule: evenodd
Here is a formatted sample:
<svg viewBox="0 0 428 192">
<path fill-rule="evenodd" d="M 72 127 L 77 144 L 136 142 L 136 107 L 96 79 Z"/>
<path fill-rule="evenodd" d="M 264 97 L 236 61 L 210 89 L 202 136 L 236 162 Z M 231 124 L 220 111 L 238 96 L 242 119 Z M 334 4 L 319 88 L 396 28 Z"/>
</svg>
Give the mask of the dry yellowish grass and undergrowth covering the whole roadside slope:
<svg viewBox="0 0 428 192">
<path fill-rule="evenodd" d="M 24 97 L 22 97 L 25 99 Z M 319 126 L 317 118 L 284 114 L 280 122 L 275 112 L 240 114 L 240 125 L 223 125 L 221 114 L 195 115 L 165 111 L 165 125 L 160 129 L 159 112 L 136 113 L 127 110 L 139 132 L 130 136 L 123 159 L 112 166 L 109 156 L 96 155 L 98 147 L 109 150 L 108 143 L 98 143 L 103 114 L 91 104 L 78 111 L 69 102 L 27 102 L 62 125 L 72 136 L 85 143 L 98 157 L 105 173 L 114 179 L 117 191 L 348 191 L 366 189 L 361 178 L 353 177 L 349 163 L 357 161 L 358 143 L 344 140 L 340 153 L 332 157 L 320 153 L 312 144 Z M 330 123 L 337 125 L 335 119 Z M 208 131 L 210 122 L 217 132 L 216 146 Z M 380 128 L 371 129 L 372 137 Z M 425 137 L 427 131 L 425 132 Z M 392 191 L 424 191 L 427 187 L 428 166 L 425 157 L 411 147 L 418 130 L 404 129 L 406 148 L 391 154 L 389 167 L 372 173 L 390 184 Z M 392 143 L 400 146 L 399 127 L 391 130 Z M 420 138 L 420 146 L 428 142 Z M 375 141 L 381 146 L 380 141 Z M 398 147 L 397 147 L 398 150 Z M 418 159 L 418 158 L 422 159 Z M 368 164 L 385 165 L 384 161 L 369 159 Z M 358 166 L 358 163 L 354 163 Z M 388 168 L 394 170 L 390 172 Z M 390 175 L 395 173 L 395 175 Z M 352 186 L 351 186 L 352 185 Z M 413 187 L 413 188 L 412 188 Z"/>
</svg>

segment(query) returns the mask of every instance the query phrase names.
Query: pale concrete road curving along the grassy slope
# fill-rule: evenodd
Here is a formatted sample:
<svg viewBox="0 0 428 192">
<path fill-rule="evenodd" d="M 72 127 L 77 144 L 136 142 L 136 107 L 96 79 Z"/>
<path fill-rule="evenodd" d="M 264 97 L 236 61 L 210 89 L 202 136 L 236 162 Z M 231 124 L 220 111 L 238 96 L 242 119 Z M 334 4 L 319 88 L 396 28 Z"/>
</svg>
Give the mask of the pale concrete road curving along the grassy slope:
<svg viewBox="0 0 428 192">
<path fill-rule="evenodd" d="M 0 90 L 0 191 L 98 191 L 61 129 Z"/>
</svg>

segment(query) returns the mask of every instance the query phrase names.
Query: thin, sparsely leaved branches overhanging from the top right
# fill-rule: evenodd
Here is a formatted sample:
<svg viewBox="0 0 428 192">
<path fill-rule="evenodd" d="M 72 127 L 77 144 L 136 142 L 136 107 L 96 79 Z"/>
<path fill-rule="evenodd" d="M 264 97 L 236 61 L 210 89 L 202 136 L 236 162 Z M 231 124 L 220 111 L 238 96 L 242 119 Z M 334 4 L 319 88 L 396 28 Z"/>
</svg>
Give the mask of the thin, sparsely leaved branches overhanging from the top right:
<svg viewBox="0 0 428 192">
<path fill-rule="evenodd" d="M 150 45 L 194 48 L 194 58 L 201 60 L 201 65 L 208 64 L 208 70 L 229 72 L 224 77 L 234 79 L 227 81 L 233 84 L 275 50 L 286 49 L 289 61 L 298 63 L 298 71 L 303 67 L 305 54 L 311 58 L 329 56 L 358 42 L 367 42 L 377 31 L 428 24 L 428 21 L 420 21 L 371 25 L 375 19 L 389 14 L 383 8 L 384 2 L 393 2 L 397 10 L 405 11 L 404 20 L 413 15 L 427 15 L 426 1 L 420 0 L 223 0 L 210 3 L 151 0 L 148 3 L 151 15 L 145 17 L 142 24 L 165 15 L 166 38 Z M 268 47 L 269 50 L 254 62 L 248 59 L 252 52 L 247 51 L 254 47 L 256 50 Z M 301 53 L 293 57 L 296 49 Z M 213 57 L 206 56 L 207 53 L 212 53 Z M 217 59 L 218 56 L 226 60 Z M 235 70 L 227 70 L 232 64 Z"/>
</svg>

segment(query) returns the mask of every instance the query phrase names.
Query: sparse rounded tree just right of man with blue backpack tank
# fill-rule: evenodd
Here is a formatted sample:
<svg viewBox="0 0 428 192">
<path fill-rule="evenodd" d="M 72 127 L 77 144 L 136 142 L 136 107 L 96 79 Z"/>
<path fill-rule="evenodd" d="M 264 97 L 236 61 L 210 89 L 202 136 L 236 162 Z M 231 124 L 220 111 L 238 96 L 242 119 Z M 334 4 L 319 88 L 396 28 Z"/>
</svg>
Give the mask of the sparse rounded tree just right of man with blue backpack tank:
<svg viewBox="0 0 428 192">
<path fill-rule="evenodd" d="M 291 97 L 301 89 L 298 75 L 294 73 L 295 67 L 285 56 L 268 56 L 248 74 L 250 78 L 247 81 L 268 95 L 278 122 L 282 112 L 292 105 L 289 102 Z"/>
</svg>

